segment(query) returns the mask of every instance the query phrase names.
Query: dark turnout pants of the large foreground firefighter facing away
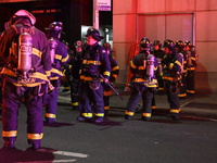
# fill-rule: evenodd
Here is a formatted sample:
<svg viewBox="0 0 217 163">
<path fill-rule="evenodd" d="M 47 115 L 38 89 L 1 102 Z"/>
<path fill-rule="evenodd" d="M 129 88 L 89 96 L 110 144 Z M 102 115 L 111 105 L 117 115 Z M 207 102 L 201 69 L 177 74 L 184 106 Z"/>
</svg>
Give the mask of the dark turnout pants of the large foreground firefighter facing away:
<svg viewBox="0 0 217 163">
<path fill-rule="evenodd" d="M 38 87 L 16 87 L 4 80 L 2 89 L 2 137 L 5 141 L 16 140 L 17 116 L 22 101 L 27 109 L 28 143 L 40 143 L 43 133 L 42 97 Z"/>
</svg>

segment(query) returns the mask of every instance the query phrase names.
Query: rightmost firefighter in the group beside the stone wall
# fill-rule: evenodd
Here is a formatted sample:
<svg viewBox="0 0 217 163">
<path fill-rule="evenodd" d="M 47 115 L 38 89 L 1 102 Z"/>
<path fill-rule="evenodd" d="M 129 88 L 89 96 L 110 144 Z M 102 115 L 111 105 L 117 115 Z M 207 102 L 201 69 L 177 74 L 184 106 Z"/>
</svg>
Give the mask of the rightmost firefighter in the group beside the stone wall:
<svg viewBox="0 0 217 163">
<path fill-rule="evenodd" d="M 184 41 L 184 53 L 187 55 L 187 93 L 188 95 L 194 95 L 194 74 L 195 74 L 195 68 L 197 64 L 197 59 L 199 55 L 194 50 L 193 45 L 191 41 Z"/>
</svg>

